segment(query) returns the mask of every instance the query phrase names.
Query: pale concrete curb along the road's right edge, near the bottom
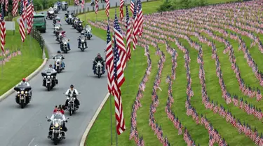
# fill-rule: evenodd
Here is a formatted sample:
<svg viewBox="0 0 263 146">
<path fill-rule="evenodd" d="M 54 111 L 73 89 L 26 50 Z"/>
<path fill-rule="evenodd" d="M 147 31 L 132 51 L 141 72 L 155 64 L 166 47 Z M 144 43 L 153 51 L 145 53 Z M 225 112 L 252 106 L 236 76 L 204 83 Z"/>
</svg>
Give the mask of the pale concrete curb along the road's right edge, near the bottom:
<svg viewBox="0 0 263 146">
<path fill-rule="evenodd" d="M 93 126 L 93 124 L 95 123 L 95 120 L 97 119 L 97 116 L 100 114 L 100 111 L 102 110 L 102 107 L 104 106 L 104 104 L 106 103 L 107 99 L 109 98 L 109 93 L 107 93 L 107 95 L 105 96 L 104 100 L 102 101 L 102 103 L 100 104 L 100 106 L 97 108 L 97 111 L 95 112 L 93 118 L 90 120 L 90 124 L 88 124 L 85 132 L 82 135 L 81 138 L 81 143 L 79 144 L 79 146 L 85 146 L 85 142 L 86 142 L 86 138 L 88 136 L 88 133 L 90 132 L 90 128 Z"/>
</svg>

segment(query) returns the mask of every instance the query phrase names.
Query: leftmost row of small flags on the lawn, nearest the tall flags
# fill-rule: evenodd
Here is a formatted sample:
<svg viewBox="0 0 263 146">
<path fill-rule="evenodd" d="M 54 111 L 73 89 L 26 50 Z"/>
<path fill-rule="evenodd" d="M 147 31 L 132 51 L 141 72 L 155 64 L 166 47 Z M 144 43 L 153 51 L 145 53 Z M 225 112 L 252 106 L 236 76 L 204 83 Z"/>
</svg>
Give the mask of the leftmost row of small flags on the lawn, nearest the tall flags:
<svg viewBox="0 0 263 146">
<path fill-rule="evenodd" d="M 144 77 L 142 78 L 142 81 L 140 83 L 139 90 L 137 92 L 135 101 L 132 106 L 132 112 L 130 114 L 130 138 L 129 140 L 134 139 L 137 146 L 144 146 L 144 140 L 142 137 L 139 138 L 139 133 L 137 131 L 136 112 L 139 109 L 139 107 L 142 107 L 140 103 L 140 99 L 143 97 L 143 92 L 144 92 L 144 89 L 146 88 L 145 84 L 147 83 L 148 77 L 151 74 L 151 58 L 149 55 L 149 46 L 145 46 L 144 55 L 147 56 L 148 65 L 147 65 L 147 69 L 145 71 Z"/>
</svg>

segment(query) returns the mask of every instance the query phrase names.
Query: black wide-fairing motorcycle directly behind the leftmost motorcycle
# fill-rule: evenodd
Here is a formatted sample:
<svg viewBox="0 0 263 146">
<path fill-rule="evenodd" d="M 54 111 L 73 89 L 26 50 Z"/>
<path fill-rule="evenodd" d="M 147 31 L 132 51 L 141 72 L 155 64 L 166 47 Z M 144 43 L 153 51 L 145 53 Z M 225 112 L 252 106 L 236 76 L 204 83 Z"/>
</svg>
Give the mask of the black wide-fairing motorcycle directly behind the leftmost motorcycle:
<svg viewBox="0 0 263 146">
<path fill-rule="evenodd" d="M 43 77 L 43 86 L 48 88 L 48 91 L 58 84 L 58 79 L 55 79 L 57 72 L 54 72 L 53 69 L 46 69 L 44 72 L 41 72 L 41 75 Z"/>
</svg>

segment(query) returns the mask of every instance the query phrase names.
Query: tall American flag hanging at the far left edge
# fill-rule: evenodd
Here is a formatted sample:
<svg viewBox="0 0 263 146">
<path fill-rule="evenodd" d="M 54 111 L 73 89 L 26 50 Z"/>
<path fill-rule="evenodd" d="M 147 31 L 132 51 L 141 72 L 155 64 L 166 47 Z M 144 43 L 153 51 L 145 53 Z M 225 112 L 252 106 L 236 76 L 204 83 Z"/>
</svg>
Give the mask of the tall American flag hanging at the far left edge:
<svg viewBox="0 0 263 146">
<path fill-rule="evenodd" d="M 0 29 L 1 29 L 1 51 L 4 54 L 4 46 L 6 44 L 6 22 L 4 21 L 4 5 L 2 5 L 1 8 L 1 14 L 0 14 Z"/>
</svg>

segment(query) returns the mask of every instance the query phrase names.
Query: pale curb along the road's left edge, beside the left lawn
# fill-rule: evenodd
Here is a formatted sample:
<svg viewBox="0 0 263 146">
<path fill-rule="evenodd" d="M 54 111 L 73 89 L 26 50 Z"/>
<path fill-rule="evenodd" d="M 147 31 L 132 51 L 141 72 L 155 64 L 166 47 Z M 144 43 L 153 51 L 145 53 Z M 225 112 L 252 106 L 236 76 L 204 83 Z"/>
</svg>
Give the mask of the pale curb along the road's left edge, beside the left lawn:
<svg viewBox="0 0 263 146">
<path fill-rule="evenodd" d="M 37 68 L 34 72 L 32 72 L 32 74 L 29 74 L 29 76 L 26 78 L 27 81 L 29 81 L 34 76 L 36 76 L 36 74 L 38 74 L 41 71 L 41 69 L 43 69 L 43 67 L 46 65 L 47 61 L 48 61 L 48 58 L 45 58 L 43 60 L 42 64 L 39 66 L 39 68 Z M 17 86 L 17 85 L 15 85 L 15 86 Z M 13 88 L 15 88 L 15 86 Z M 9 91 L 7 91 L 6 93 L 4 93 L 3 95 L 0 96 L 0 102 L 1 102 L 1 100 L 6 99 L 8 97 L 8 95 L 11 95 L 14 92 L 13 88 L 9 89 Z"/>
</svg>

